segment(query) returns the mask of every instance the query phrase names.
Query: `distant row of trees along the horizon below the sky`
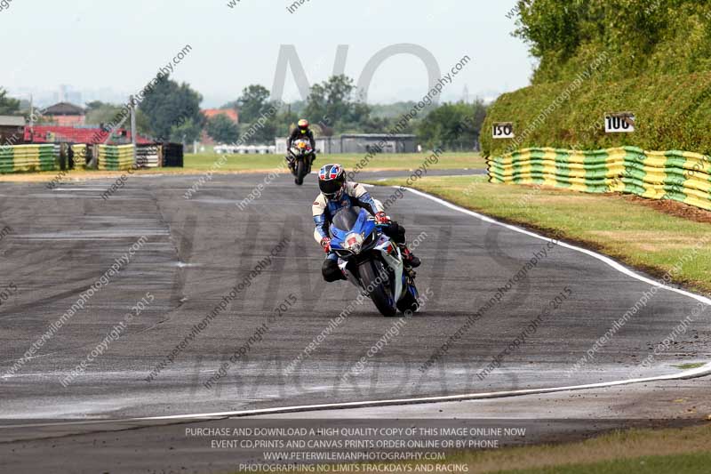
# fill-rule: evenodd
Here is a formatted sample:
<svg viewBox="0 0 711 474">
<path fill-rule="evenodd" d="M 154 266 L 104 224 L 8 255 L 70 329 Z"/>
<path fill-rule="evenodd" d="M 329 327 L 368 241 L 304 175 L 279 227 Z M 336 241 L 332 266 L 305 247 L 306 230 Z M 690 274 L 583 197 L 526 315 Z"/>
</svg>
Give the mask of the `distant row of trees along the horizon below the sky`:
<svg viewBox="0 0 711 474">
<path fill-rule="evenodd" d="M 189 84 L 179 84 L 165 76 L 140 103 L 137 127 L 143 135 L 169 141 L 191 142 L 205 132 L 214 141 L 234 143 L 262 117 L 262 121 L 266 118 L 266 123 L 256 133 L 252 131 L 246 142 L 265 144 L 274 141 L 275 137 L 287 136 L 300 118 L 307 118 L 312 123 L 317 136 L 387 133 L 415 104 L 366 104 L 359 99 L 354 81 L 348 76 L 332 76 L 313 85 L 307 100 L 275 104 L 270 96 L 266 87 L 252 84 L 245 87 L 236 100 L 224 104 L 222 109 L 234 109 L 239 114 L 239 124 L 236 124 L 225 115 L 205 117 L 200 108 L 203 96 Z M 110 123 L 121 108 L 121 105 L 98 100 L 89 102 L 86 104 L 86 123 Z M 276 114 L 265 114 L 272 108 L 277 110 Z M 0 115 L 20 115 L 20 100 L 7 97 L 2 88 Z M 427 149 L 474 149 L 478 146 L 485 115 L 486 107 L 481 100 L 433 104 L 425 108 L 423 114 L 408 121 L 401 133 L 417 135 L 419 143 Z"/>
</svg>

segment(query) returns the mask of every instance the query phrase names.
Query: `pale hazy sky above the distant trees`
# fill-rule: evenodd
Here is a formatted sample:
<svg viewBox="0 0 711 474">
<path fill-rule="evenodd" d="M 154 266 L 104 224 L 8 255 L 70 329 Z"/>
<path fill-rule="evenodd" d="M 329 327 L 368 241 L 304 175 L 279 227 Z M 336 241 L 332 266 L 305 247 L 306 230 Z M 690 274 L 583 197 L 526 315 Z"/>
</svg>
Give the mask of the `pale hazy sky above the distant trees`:
<svg viewBox="0 0 711 474">
<path fill-rule="evenodd" d="M 173 78 L 192 84 L 204 106 L 234 100 L 245 85 L 274 82 L 282 44 L 293 44 L 313 84 L 332 74 L 338 44 L 348 44 L 346 73 L 391 44 L 419 44 L 443 71 L 465 54 L 473 60 L 443 93 L 458 100 L 491 97 L 528 84 L 533 61 L 510 36 L 515 0 L 12 0 L 0 11 L 0 85 L 13 93 L 77 90 L 134 92 L 186 44 L 193 48 Z M 236 1 L 236 0 L 235 0 Z M 299 1 L 299 0 L 297 0 Z M 387 60 L 375 75 L 370 102 L 419 100 L 427 92 L 422 62 Z M 288 75 L 284 99 L 300 94 Z"/>
</svg>

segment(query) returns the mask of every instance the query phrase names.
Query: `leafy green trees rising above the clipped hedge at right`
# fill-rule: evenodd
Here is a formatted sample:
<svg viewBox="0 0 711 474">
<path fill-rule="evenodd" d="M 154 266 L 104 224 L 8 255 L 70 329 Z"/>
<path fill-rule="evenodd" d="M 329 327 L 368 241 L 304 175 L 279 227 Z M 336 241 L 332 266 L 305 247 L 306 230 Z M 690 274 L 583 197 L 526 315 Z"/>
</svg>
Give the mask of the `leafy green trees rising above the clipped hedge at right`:
<svg viewBox="0 0 711 474">
<path fill-rule="evenodd" d="M 711 68 L 711 3 L 699 0 L 518 0 L 514 36 L 539 60 L 533 84 L 570 81 L 602 52 L 603 81 Z"/>
</svg>

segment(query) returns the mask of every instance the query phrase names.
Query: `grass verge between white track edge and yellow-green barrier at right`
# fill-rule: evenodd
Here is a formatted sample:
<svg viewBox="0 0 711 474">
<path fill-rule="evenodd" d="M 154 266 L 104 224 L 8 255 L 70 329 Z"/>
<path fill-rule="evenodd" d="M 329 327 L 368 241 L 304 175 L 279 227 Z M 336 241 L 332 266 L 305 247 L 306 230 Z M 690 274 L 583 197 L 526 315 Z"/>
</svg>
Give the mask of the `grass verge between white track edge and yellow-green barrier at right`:
<svg viewBox="0 0 711 474">
<path fill-rule="evenodd" d="M 373 184 L 405 185 L 405 181 Z M 701 239 L 710 235 L 711 224 L 669 215 L 621 195 L 491 184 L 485 177 L 423 178 L 414 187 L 501 220 L 549 234 L 557 231 L 564 239 L 593 247 L 658 277 L 670 271 L 675 282 L 711 293 L 708 246 L 674 270 Z"/>
</svg>

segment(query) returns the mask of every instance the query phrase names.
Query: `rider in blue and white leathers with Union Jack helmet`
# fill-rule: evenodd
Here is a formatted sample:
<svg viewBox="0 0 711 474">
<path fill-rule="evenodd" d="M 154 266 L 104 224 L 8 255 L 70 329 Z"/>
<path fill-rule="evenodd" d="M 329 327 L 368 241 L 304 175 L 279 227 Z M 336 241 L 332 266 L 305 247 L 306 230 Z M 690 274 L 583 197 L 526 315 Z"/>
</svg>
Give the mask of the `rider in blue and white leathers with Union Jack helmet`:
<svg viewBox="0 0 711 474">
<path fill-rule="evenodd" d="M 318 188 L 321 194 L 316 197 L 312 211 L 314 214 L 314 238 L 326 253 L 326 260 L 321 272 L 324 280 L 332 283 L 347 279 L 339 268 L 339 257 L 331 249 L 331 237 L 328 228 L 333 216 L 345 207 L 357 206 L 367 210 L 375 217 L 378 224 L 389 224 L 383 233 L 390 237 L 400 248 L 403 264 L 411 269 L 419 267 L 420 261 L 405 245 L 405 229 L 385 214 L 379 201 L 373 199 L 363 185 L 346 180 L 346 171 L 341 165 L 324 165 L 318 172 Z"/>
</svg>

